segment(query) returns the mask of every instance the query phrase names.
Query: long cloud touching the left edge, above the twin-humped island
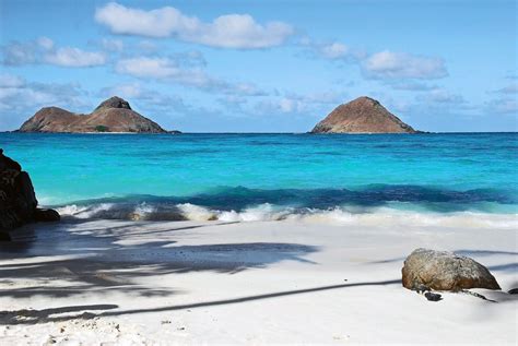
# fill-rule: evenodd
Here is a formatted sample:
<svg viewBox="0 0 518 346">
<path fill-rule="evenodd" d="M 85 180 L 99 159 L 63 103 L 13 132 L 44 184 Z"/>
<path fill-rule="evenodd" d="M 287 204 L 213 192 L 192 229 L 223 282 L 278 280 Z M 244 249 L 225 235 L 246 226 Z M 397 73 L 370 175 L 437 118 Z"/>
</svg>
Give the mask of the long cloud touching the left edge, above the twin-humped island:
<svg viewBox="0 0 518 346">
<path fill-rule="evenodd" d="M 11 43 L 2 47 L 2 62 L 7 65 L 48 63 L 66 68 L 89 68 L 105 64 L 106 56 L 73 47 L 56 48 L 48 37 L 28 43 Z"/>
</svg>

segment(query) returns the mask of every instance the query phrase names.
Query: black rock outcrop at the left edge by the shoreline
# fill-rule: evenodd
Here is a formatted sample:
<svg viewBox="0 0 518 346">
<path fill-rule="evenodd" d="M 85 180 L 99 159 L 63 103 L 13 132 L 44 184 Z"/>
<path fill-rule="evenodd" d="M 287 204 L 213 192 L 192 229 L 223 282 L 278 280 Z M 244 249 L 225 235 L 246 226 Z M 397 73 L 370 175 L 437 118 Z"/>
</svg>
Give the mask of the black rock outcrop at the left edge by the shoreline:
<svg viewBox="0 0 518 346">
<path fill-rule="evenodd" d="M 28 174 L 13 159 L 3 155 L 0 148 L 0 232 L 5 239 L 8 231 L 24 224 L 37 220 L 59 220 L 52 210 L 37 208 Z"/>
</svg>

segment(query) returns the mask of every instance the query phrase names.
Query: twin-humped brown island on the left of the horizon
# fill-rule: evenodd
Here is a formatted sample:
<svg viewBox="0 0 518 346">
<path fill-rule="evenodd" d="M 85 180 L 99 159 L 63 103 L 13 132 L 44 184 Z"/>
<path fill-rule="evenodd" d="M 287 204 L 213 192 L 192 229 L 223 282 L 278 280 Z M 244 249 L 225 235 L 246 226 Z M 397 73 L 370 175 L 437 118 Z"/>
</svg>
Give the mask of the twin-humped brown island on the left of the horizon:
<svg viewBox="0 0 518 346">
<path fill-rule="evenodd" d="M 78 115 L 58 107 L 42 108 L 19 131 L 166 133 L 156 122 L 132 110 L 127 100 L 117 96 L 103 102 L 90 115 Z"/>
</svg>

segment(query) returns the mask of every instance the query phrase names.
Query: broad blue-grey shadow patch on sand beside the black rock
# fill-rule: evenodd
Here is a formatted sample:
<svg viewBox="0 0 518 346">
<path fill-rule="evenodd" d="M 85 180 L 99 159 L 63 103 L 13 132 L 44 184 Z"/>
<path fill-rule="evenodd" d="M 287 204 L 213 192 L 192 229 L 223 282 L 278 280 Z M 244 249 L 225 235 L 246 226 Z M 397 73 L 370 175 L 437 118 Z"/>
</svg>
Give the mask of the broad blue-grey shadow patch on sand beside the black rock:
<svg viewBox="0 0 518 346">
<path fill-rule="evenodd" d="M 181 294 L 152 286 L 145 277 L 212 271 L 235 274 L 281 261 L 315 264 L 304 259 L 317 247 L 284 242 L 176 244 L 175 239 L 199 239 L 196 229 L 229 223 L 170 227 L 170 223 L 63 223 L 39 226 L 36 240 L 0 242 L 0 297 L 70 297 L 84 291 L 118 291 L 142 297 Z M 128 237 L 131 236 L 131 237 Z M 35 281 L 37 285 L 14 285 Z"/>
</svg>

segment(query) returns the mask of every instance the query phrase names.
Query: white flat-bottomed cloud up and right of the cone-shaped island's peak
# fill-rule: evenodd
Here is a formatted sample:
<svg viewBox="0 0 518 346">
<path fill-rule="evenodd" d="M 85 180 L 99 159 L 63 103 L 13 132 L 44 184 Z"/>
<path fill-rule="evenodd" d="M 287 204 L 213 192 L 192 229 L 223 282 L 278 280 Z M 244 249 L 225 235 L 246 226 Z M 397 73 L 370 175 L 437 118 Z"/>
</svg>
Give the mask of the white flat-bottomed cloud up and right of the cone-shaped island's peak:
<svg viewBox="0 0 518 346">
<path fill-rule="evenodd" d="M 388 50 L 368 57 L 362 69 L 365 76 L 372 79 L 439 79 L 448 75 L 440 58 Z"/>
</svg>

